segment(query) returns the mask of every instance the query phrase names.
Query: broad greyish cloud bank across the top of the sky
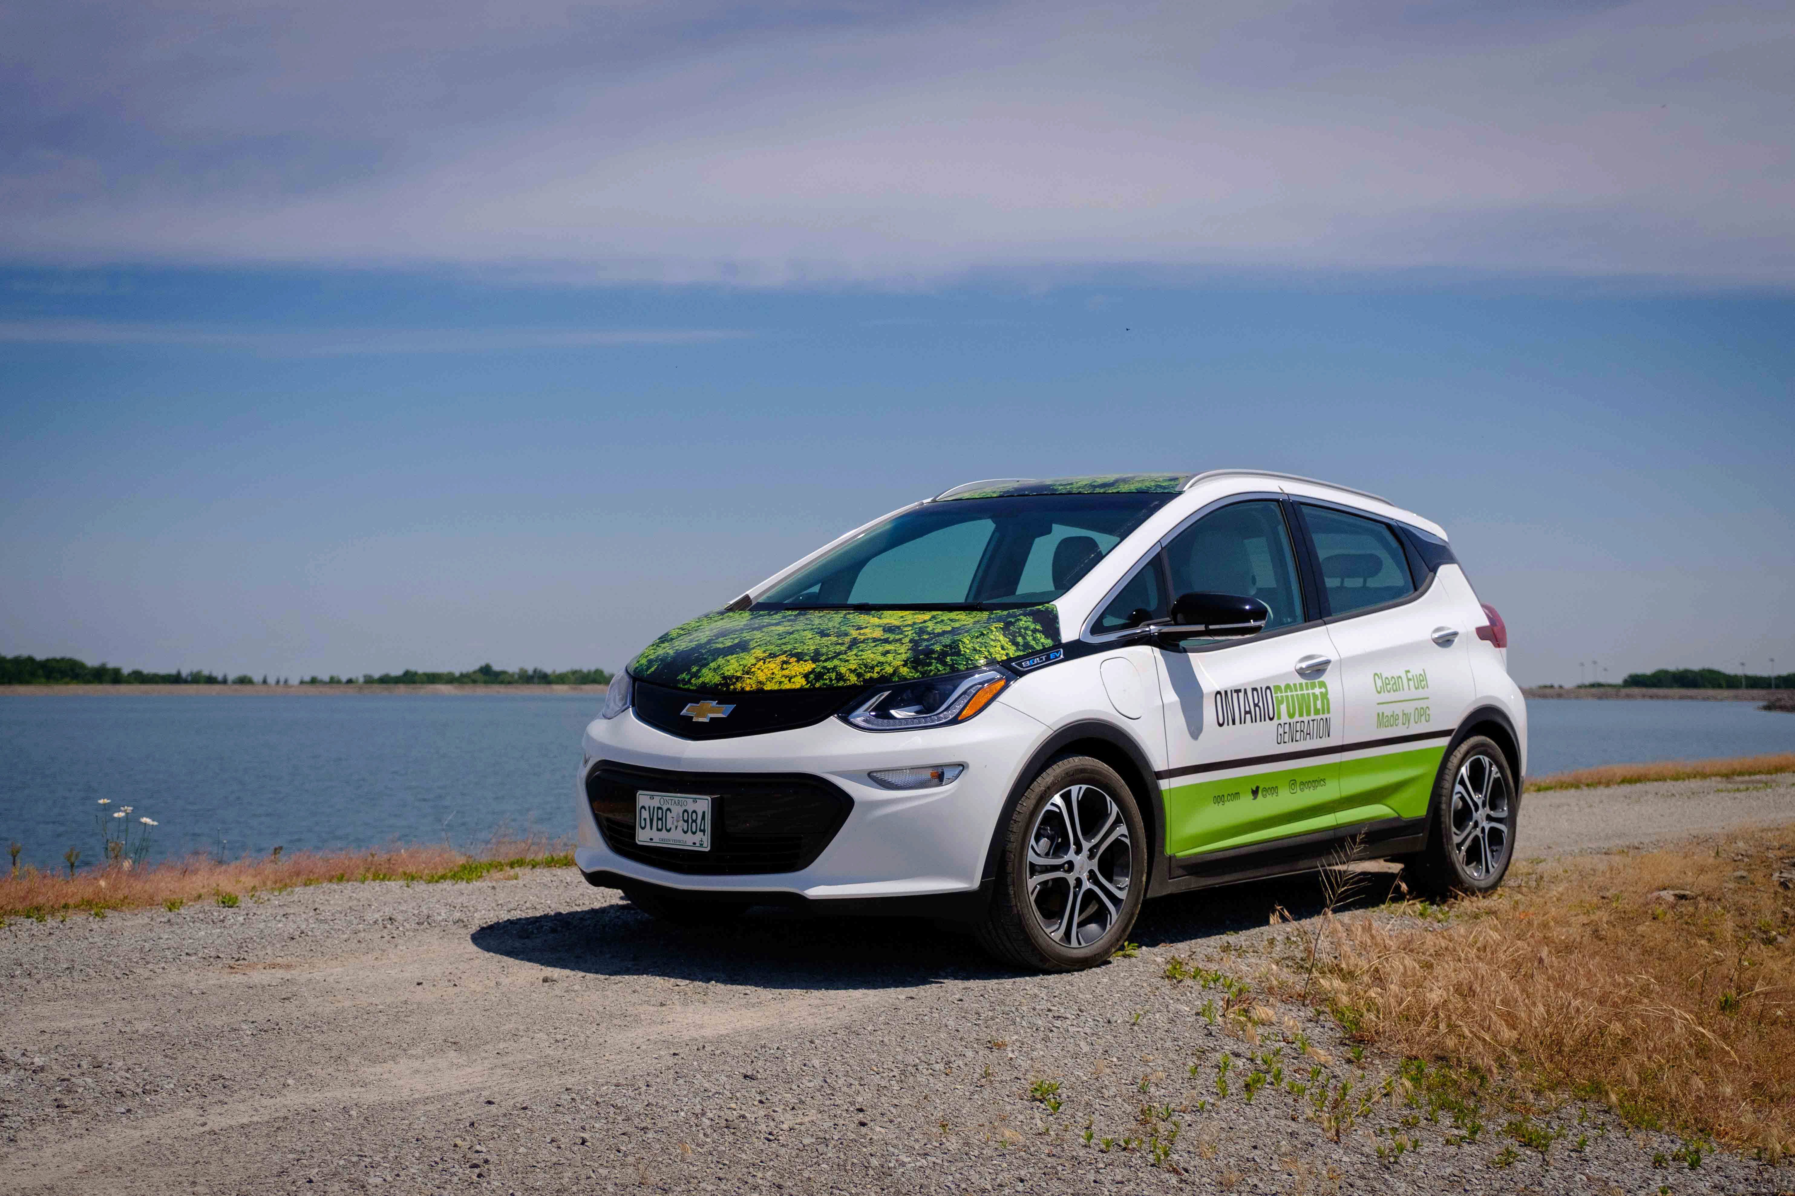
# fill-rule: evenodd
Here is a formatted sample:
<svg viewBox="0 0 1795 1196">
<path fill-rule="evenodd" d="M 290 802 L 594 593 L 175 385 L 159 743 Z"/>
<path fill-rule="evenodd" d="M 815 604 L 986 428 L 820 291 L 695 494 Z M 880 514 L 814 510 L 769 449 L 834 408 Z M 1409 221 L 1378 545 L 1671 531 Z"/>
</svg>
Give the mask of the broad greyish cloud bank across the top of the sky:
<svg viewBox="0 0 1795 1196">
<path fill-rule="evenodd" d="M 22 262 L 1795 283 L 1782 4 L 93 0 L 0 47 Z"/>
</svg>

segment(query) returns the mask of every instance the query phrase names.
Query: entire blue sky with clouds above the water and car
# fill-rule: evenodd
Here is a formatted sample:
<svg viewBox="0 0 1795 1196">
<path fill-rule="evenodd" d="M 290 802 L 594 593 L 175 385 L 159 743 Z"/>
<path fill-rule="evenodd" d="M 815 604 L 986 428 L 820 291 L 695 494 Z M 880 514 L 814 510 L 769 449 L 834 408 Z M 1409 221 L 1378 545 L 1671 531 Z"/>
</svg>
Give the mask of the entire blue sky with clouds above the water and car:
<svg viewBox="0 0 1795 1196">
<path fill-rule="evenodd" d="M 1795 667 L 1772 5 L 0 16 L 0 653 L 616 667 L 957 481 L 1449 527 L 1524 681 Z"/>
</svg>

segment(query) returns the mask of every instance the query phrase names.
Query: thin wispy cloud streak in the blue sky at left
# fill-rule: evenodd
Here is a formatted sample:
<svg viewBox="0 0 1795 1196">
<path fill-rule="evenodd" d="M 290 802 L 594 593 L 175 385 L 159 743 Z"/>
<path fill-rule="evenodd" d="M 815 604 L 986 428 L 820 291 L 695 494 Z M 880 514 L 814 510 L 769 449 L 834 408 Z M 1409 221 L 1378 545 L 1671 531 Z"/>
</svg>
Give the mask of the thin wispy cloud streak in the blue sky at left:
<svg viewBox="0 0 1795 1196">
<path fill-rule="evenodd" d="M 92 319 L 0 319 L 0 344 L 117 344 L 244 350 L 282 357 L 355 353 L 494 353 L 508 350 L 704 344 L 750 334 L 731 328 L 320 328 L 260 332 L 201 325 Z"/>
</svg>

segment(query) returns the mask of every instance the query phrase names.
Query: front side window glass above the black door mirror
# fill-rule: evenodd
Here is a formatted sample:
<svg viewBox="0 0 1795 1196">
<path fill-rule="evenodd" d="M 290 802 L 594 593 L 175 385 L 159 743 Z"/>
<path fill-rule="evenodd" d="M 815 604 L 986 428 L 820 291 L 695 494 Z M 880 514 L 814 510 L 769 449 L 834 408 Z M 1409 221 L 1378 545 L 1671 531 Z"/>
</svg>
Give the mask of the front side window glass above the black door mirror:
<svg viewBox="0 0 1795 1196">
<path fill-rule="evenodd" d="M 1237 502 L 1181 531 L 1165 549 L 1172 597 L 1235 594 L 1271 608 L 1267 631 L 1301 622 L 1303 592 L 1282 506 L 1276 500 Z"/>
</svg>

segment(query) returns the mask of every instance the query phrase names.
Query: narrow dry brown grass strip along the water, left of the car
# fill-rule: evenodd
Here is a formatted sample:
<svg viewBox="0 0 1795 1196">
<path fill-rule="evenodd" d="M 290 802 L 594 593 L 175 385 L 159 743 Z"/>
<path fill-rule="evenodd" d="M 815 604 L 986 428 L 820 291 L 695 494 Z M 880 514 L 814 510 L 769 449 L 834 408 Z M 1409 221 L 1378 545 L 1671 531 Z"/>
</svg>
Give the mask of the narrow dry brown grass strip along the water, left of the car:
<svg viewBox="0 0 1795 1196">
<path fill-rule="evenodd" d="M 506 868 L 569 866 L 573 855 L 564 845 L 504 839 L 474 855 L 449 846 L 398 846 L 379 852 L 275 852 L 237 861 L 188 855 L 144 868 L 90 868 L 72 877 L 22 868 L 16 875 L 0 877 L 0 916 L 106 916 L 109 909 L 180 909 L 188 902 L 235 906 L 242 897 L 307 884 L 477 880 Z"/>
</svg>

